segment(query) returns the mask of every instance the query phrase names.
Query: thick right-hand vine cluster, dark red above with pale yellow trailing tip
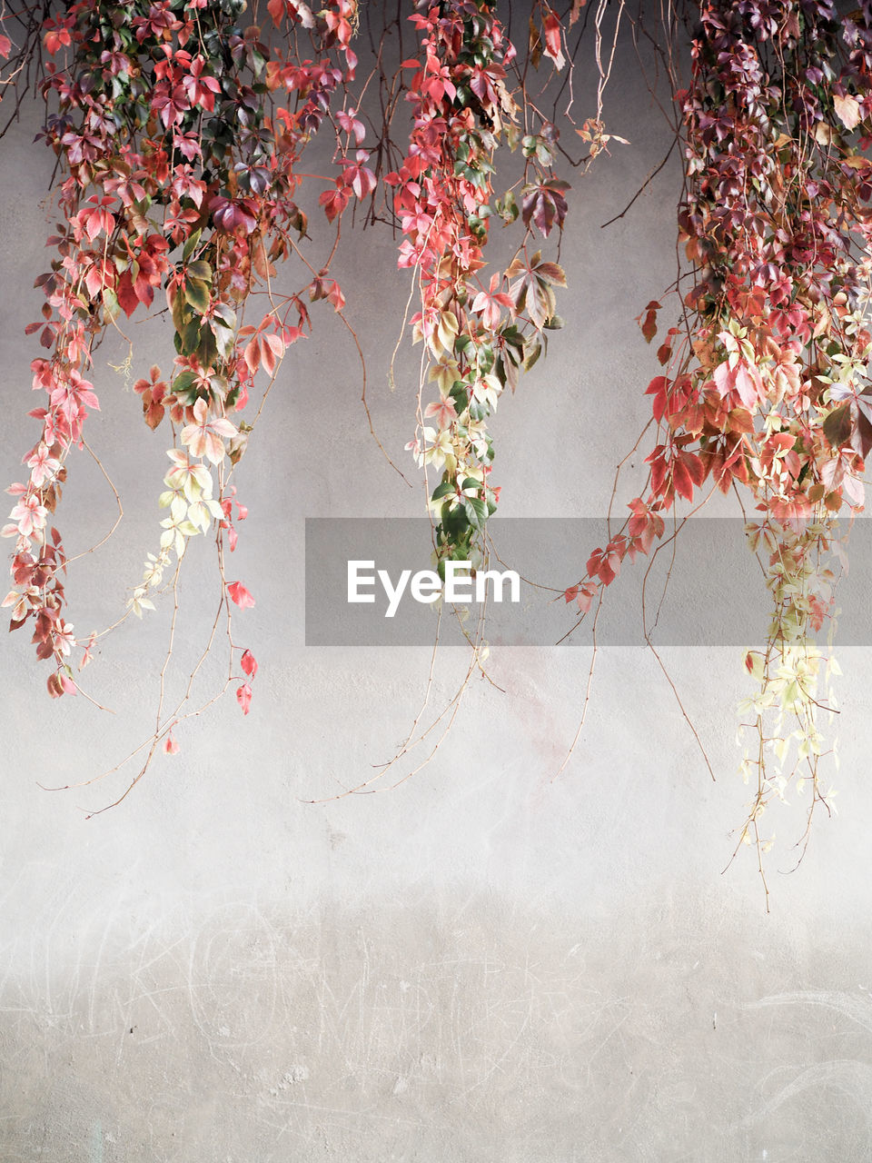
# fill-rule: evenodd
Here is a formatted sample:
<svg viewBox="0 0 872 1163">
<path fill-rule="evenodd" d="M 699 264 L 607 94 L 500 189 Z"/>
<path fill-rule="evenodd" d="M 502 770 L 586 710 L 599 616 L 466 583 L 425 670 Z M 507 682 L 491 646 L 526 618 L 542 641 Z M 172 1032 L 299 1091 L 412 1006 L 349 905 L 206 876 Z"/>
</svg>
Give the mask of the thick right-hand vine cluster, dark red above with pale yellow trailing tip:
<svg viewBox="0 0 872 1163">
<path fill-rule="evenodd" d="M 759 690 L 743 771 L 757 790 L 742 840 L 762 849 L 760 814 L 792 779 L 812 785 L 812 808 L 827 802 L 815 634 L 832 613 L 837 515 L 862 507 L 872 448 L 872 6 L 839 17 L 830 0 L 705 0 L 676 99 L 693 286 L 648 388 L 660 434 L 649 490 L 566 598 L 587 609 L 662 536 L 677 498 L 749 495 L 773 601 L 766 645 L 746 658 Z M 659 307 L 642 320 L 649 341 Z"/>
</svg>

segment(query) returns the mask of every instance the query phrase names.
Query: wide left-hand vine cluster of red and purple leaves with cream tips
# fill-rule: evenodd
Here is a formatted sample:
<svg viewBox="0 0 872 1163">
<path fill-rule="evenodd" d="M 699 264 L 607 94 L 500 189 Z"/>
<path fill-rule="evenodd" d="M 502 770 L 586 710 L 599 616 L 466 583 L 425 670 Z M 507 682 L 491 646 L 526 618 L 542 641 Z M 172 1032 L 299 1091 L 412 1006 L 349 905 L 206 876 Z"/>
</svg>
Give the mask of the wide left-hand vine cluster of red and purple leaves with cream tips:
<svg viewBox="0 0 872 1163">
<path fill-rule="evenodd" d="M 229 476 L 250 430 L 230 418 L 245 407 L 255 376 L 263 371 L 272 381 L 287 348 L 310 326 L 303 294 L 329 299 L 337 311 L 344 301 L 328 278 L 329 261 L 321 270 L 306 263 L 306 283 L 293 295 L 277 295 L 271 279 L 306 234 L 295 200 L 299 159 L 357 63 L 355 0 L 330 0 L 317 15 L 296 0 L 267 7 L 269 37 L 257 23 L 241 23 L 245 0 L 123 7 L 80 0 L 44 21 L 43 92 L 52 112 L 43 136 L 58 158 L 63 221 L 49 238 L 57 257 L 37 279 L 42 319 L 28 328 L 47 349 L 33 362 L 34 388 L 44 400 L 30 415 L 41 433 L 24 457 L 28 480 L 10 490 L 16 505 L 2 534 L 15 538 L 14 588 L 3 605 L 12 607 L 14 629 L 33 620 L 37 655 L 53 664 L 52 695 L 77 691 L 77 638 L 64 620 L 66 557 L 51 514 L 69 454 L 84 443 L 88 412 L 99 408 L 86 376 L 106 329 L 155 309 L 163 297 L 173 369 L 164 379 L 153 366 L 135 388 L 148 427 L 171 431 L 160 495 L 169 515 L 128 608 L 140 615 L 151 608 L 149 595 L 171 555 L 178 564 L 187 540 L 213 528 L 227 597 L 243 608 L 253 604 L 241 583 L 227 585 L 223 577 L 223 541 L 235 548 L 236 521 L 245 516 Z M 12 47 L 0 51 L 8 56 Z M 348 201 L 363 197 L 369 173 L 359 154 L 352 156 L 362 127 L 353 109 L 337 110 L 334 124 L 335 185 Z M 258 297 L 265 309 L 246 323 L 246 304 Z M 78 644 L 84 666 L 94 635 Z M 250 679 L 257 664 L 249 652 L 242 657 Z M 248 713 L 248 682 L 237 699 Z"/>
</svg>

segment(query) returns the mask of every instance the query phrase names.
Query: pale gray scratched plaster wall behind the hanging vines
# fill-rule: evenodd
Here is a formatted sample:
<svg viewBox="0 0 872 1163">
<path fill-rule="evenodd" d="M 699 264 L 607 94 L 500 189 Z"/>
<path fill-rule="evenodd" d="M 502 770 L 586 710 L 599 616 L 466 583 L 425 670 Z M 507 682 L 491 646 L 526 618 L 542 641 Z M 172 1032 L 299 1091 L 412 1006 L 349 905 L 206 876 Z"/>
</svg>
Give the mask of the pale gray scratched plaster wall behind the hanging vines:
<svg viewBox="0 0 872 1163">
<path fill-rule="evenodd" d="M 576 180 L 569 327 L 495 422 L 509 516 L 600 515 L 644 423 L 656 369 L 632 316 L 671 278 L 677 184 L 667 166 L 599 229 L 669 143 L 628 44 L 615 77 L 607 119 L 631 144 Z M 579 108 L 589 95 L 582 77 Z M 21 414 L 3 433 L 7 480 L 34 438 L 22 329 L 38 309 L 29 288 L 50 174 L 35 123 L 0 145 L 0 357 Z M 337 272 L 374 422 L 401 458 L 417 352 L 402 354 L 391 392 L 408 295 L 391 247 L 385 233 L 358 235 Z M 92 668 L 90 691 L 113 713 L 50 702 L 23 635 L 5 644 L 0 1158 L 872 1158 L 869 651 L 839 656 L 841 814 L 815 821 L 796 871 L 802 805 L 772 814 L 770 916 L 746 854 L 723 872 L 748 794 L 735 775 L 735 648 L 664 652 L 714 783 L 656 659 L 628 648 L 601 651 L 585 730 L 553 778 L 584 698 L 580 642 L 495 650 L 493 683 L 469 684 L 429 765 L 400 783 L 438 730 L 378 794 L 343 797 L 401 748 L 430 656 L 305 647 L 303 519 L 417 515 L 421 495 L 366 431 L 348 334 L 328 312 L 314 321 L 238 476 L 250 518 L 237 575 L 257 597 L 240 616 L 260 663 L 251 715 L 222 707 L 191 721 L 178 756 L 86 820 L 81 808 L 109 802 L 128 769 L 76 791 L 40 784 L 100 776 L 151 730 L 167 612 L 122 628 Z M 169 364 L 159 321 L 131 331 L 135 376 Z M 108 366 L 123 355 L 112 341 L 94 370 L 91 438 L 126 515 L 99 559 L 71 570 L 85 633 L 122 607 L 160 515 L 165 442 Z M 112 523 L 84 456 L 63 509 L 71 551 Z M 192 545 L 181 590 L 176 685 L 208 628 L 205 548 Z M 438 657 L 424 726 L 465 666 L 458 650 Z"/>
</svg>

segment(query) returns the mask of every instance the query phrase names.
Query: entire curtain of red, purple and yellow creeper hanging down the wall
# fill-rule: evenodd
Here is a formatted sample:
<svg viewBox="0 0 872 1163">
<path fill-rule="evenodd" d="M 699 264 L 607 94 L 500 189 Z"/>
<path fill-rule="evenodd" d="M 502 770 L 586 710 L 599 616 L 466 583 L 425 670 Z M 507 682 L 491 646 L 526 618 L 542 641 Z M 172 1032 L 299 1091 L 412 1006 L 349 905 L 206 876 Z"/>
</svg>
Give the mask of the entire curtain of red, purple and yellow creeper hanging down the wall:
<svg viewBox="0 0 872 1163">
<path fill-rule="evenodd" d="M 408 322 L 423 356 L 407 448 L 426 478 L 436 475 L 427 481 L 436 557 L 484 559 L 500 494 L 489 424 L 562 326 L 559 244 L 544 252 L 569 213 L 560 167 L 586 169 L 614 140 L 603 117 L 616 43 L 609 51 L 603 42 L 607 7 L 576 0 L 562 15 L 535 0 L 519 53 L 495 0 L 424 0 L 380 34 L 373 23 L 377 64 L 360 81 L 356 0 L 319 12 L 301 0 L 269 0 L 263 13 L 245 0 L 0 10 L 9 120 L 38 88 L 49 110 L 42 137 L 57 159 L 55 257 L 37 279 L 42 316 L 28 328 L 42 348 L 31 364 L 38 431 L 1 530 L 14 547 L 3 605 L 13 629 L 33 630 L 52 697 L 81 691 L 79 672 L 108 633 L 76 633 L 64 592 L 74 558 L 55 518 L 73 451 L 91 452 L 94 352 L 134 315 L 165 311 L 172 362 L 134 385 L 146 428 L 170 445 L 158 490 L 165 515 L 120 621 L 174 591 L 191 538 L 214 536 L 229 648 L 216 697 L 235 687 L 248 714 L 257 662 L 237 645 L 230 611 L 253 605 L 256 586 L 229 580 L 227 569 L 246 515 L 235 466 L 263 407 L 251 399 L 256 385 L 265 398 L 310 331 L 309 304 L 343 309 L 330 267 L 349 207 L 362 206 L 370 224 L 387 219 L 414 280 Z M 620 24 L 623 3 L 613 10 Z M 746 533 L 772 618 L 766 642 L 745 657 L 756 690 L 742 711 L 752 741 L 742 768 L 753 798 L 739 839 L 762 855 L 764 809 L 788 787 L 810 787 L 809 821 L 815 805 L 829 806 L 822 716 L 835 709 L 837 668 L 819 640 L 834 620 L 839 513 L 862 508 L 872 448 L 872 6 L 843 17 L 830 0 L 703 0 L 684 13 L 686 87 L 674 76 L 674 27 L 664 59 L 685 155 L 687 267 L 676 284 L 681 319 L 657 348 L 663 370 L 648 387 L 658 437 L 645 487 L 565 598 L 584 616 L 626 558 L 656 552 L 677 508 L 695 512 L 715 490 L 752 511 Z M 596 109 L 577 124 L 572 67 L 588 21 Z M 402 43 L 409 22 L 414 53 L 389 77 L 385 45 Z M 641 17 L 634 28 L 644 30 Z M 543 62 L 564 78 L 550 113 L 553 91 L 545 98 L 548 81 L 538 92 L 531 83 Z M 380 115 L 366 108 L 373 78 Z M 403 145 L 394 140 L 400 110 Z M 581 158 L 560 141 L 567 126 Z M 323 128 L 335 170 L 303 174 L 303 151 Z M 514 180 L 503 181 L 506 156 Z M 316 184 L 316 198 L 303 198 L 303 181 Z M 322 231 L 327 222 L 317 261 L 302 208 L 315 201 Z M 488 264 L 495 223 L 517 235 L 509 261 Z M 274 281 L 285 259 L 296 272 L 292 293 Z M 639 316 L 649 342 L 663 309 L 652 301 Z M 171 641 L 174 628 L 173 615 Z M 213 627 L 208 649 L 214 636 Z M 156 748 L 178 749 L 174 729 L 199 709 L 190 700 L 188 685 L 179 704 L 164 704 L 162 671 L 133 783 Z"/>
</svg>

